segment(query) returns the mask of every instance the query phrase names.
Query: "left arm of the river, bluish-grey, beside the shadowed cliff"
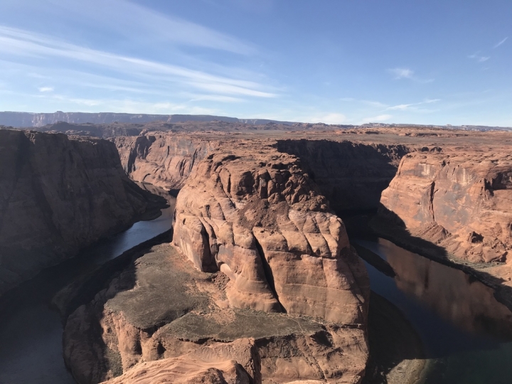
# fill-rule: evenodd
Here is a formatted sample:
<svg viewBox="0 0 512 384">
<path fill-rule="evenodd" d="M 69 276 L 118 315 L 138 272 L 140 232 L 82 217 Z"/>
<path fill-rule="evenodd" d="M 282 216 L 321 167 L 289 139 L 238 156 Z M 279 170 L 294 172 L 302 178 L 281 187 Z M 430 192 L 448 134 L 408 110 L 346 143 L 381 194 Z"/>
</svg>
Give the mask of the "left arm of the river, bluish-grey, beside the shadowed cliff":
<svg viewBox="0 0 512 384">
<path fill-rule="evenodd" d="M 174 199 L 159 218 L 131 228 L 90 248 L 80 257 L 51 267 L 8 292 L 0 302 L 0 383 L 75 383 L 64 366 L 63 326 L 50 309 L 58 290 L 83 272 L 112 260 L 135 245 L 171 228 Z"/>
</svg>

